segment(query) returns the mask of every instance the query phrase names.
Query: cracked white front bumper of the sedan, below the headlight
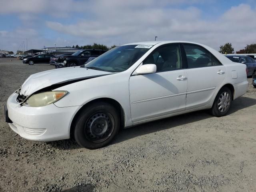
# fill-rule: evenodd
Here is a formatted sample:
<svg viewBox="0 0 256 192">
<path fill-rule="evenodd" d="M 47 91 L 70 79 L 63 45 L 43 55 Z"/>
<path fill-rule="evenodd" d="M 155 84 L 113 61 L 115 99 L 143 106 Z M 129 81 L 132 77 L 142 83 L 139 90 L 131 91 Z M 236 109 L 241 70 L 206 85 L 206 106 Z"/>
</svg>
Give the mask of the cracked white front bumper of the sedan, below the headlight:
<svg viewBox="0 0 256 192">
<path fill-rule="evenodd" d="M 7 101 L 10 128 L 21 137 L 34 141 L 54 141 L 70 138 L 72 119 L 80 106 L 59 108 L 21 106 L 12 94 Z"/>
</svg>

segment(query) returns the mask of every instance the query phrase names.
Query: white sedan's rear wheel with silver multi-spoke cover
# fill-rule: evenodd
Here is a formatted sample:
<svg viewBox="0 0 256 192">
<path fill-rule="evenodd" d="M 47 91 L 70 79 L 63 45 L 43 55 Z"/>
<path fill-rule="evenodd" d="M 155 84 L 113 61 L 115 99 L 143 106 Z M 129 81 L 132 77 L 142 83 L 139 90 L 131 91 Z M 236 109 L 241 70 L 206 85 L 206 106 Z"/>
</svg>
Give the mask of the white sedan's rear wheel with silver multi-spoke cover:
<svg viewBox="0 0 256 192">
<path fill-rule="evenodd" d="M 230 109 L 232 102 L 232 93 L 229 88 L 223 87 L 218 92 L 212 108 L 210 110 L 211 114 L 216 117 L 225 116 Z"/>
</svg>

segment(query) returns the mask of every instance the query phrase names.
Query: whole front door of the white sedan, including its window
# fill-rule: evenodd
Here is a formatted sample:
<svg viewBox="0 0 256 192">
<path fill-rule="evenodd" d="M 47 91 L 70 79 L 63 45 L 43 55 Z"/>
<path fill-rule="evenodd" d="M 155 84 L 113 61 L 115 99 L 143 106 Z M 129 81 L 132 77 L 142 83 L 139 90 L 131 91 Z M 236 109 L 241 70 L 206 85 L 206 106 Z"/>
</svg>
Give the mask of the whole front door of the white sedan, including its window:
<svg viewBox="0 0 256 192">
<path fill-rule="evenodd" d="M 156 48 L 142 64 L 156 64 L 157 71 L 130 77 L 132 121 L 185 110 L 187 70 L 182 69 L 179 44 Z"/>
</svg>

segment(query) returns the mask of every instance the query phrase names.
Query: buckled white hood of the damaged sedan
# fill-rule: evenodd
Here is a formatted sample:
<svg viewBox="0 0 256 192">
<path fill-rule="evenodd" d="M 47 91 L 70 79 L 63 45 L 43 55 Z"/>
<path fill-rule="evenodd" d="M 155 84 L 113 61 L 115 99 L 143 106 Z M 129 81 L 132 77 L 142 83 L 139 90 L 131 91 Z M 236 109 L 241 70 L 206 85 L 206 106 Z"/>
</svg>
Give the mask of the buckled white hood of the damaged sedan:
<svg viewBox="0 0 256 192">
<path fill-rule="evenodd" d="M 61 69 L 48 70 L 30 75 L 22 84 L 20 94 L 29 96 L 30 94 L 53 86 L 53 88 L 61 87 L 66 84 L 74 83 L 89 78 L 96 78 L 113 74 L 111 72 L 86 69 L 82 67 L 68 67 Z"/>
</svg>

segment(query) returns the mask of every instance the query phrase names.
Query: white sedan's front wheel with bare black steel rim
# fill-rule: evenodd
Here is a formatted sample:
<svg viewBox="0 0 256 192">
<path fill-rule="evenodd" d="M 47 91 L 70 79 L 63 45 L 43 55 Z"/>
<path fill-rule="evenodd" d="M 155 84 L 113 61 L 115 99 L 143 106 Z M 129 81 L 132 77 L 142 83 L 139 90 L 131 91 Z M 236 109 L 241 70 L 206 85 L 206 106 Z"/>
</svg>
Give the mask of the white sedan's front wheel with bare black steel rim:
<svg viewBox="0 0 256 192">
<path fill-rule="evenodd" d="M 74 138 L 84 148 L 97 149 L 109 144 L 119 129 L 120 114 L 116 108 L 111 104 L 98 102 L 90 104 L 78 115 Z"/>
</svg>

